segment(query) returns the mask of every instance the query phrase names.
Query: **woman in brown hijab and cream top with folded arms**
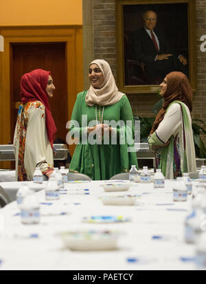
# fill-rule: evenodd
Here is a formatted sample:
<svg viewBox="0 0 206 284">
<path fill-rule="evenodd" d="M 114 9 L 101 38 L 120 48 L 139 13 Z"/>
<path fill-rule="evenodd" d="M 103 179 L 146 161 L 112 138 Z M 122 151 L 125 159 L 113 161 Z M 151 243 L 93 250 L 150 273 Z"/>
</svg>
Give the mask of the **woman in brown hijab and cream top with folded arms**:
<svg viewBox="0 0 206 284">
<path fill-rule="evenodd" d="M 155 168 L 167 179 L 196 171 L 192 133 L 192 89 L 182 72 L 171 72 L 160 85 L 163 107 L 157 114 L 148 137 L 155 150 Z"/>
</svg>

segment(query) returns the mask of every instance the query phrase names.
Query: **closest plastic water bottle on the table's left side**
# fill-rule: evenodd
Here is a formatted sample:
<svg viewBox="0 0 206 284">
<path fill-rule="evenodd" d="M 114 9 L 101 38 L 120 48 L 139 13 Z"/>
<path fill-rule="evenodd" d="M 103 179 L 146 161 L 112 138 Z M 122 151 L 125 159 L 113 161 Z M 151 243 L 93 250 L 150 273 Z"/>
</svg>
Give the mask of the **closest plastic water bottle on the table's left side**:
<svg viewBox="0 0 206 284">
<path fill-rule="evenodd" d="M 27 194 L 21 204 L 21 223 L 36 224 L 40 221 L 40 206 L 35 193 Z"/>
</svg>

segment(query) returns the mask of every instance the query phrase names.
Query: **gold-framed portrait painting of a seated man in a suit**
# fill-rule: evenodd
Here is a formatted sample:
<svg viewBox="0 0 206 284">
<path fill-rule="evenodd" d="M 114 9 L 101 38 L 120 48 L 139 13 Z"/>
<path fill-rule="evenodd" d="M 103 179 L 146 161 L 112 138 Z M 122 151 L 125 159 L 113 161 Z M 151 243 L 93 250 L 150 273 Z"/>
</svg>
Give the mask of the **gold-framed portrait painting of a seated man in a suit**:
<svg viewBox="0 0 206 284">
<path fill-rule="evenodd" d="M 116 0 L 116 23 L 120 91 L 156 93 L 172 71 L 196 90 L 194 0 Z"/>
</svg>

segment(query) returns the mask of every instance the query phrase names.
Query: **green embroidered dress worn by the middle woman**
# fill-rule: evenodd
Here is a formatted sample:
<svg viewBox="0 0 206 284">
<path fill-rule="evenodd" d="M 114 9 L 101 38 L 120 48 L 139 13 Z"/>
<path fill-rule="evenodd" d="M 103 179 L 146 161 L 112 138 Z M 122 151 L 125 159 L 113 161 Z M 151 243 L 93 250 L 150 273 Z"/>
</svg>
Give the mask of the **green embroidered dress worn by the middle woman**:
<svg viewBox="0 0 206 284">
<path fill-rule="evenodd" d="M 85 101 L 86 95 L 87 91 L 78 94 L 76 103 L 73 107 L 71 120 L 77 121 L 79 127 L 71 125 L 69 128 L 70 134 L 72 138 L 79 137 L 80 139 L 73 153 L 69 171 L 74 173 L 84 173 L 95 180 L 110 179 L 117 173 L 128 172 L 131 165 L 137 166 L 137 155 L 134 142 L 126 141 L 129 134 L 132 136 L 134 135 L 133 112 L 128 98 L 126 95 L 122 96 L 115 105 L 107 105 L 104 107 L 93 105 L 93 107 L 89 107 Z M 82 115 L 87 118 L 86 125 L 82 125 Z M 87 126 L 92 120 L 95 122 L 98 120 L 98 123 L 103 122 L 107 124 L 107 120 L 113 120 L 115 122 L 122 120 L 125 125 L 115 127 L 115 131 L 117 132 L 117 143 L 111 143 L 111 138 L 107 144 L 104 144 L 103 142 L 101 142 L 101 144 L 91 144 L 88 141 L 83 142 L 81 135 L 83 134 L 87 137 L 87 134 L 85 134 L 87 132 Z M 128 120 L 130 121 L 131 127 L 126 124 L 126 121 Z M 121 141 L 124 140 L 124 143 L 121 142 L 120 144 L 120 139 L 122 139 Z"/>
</svg>

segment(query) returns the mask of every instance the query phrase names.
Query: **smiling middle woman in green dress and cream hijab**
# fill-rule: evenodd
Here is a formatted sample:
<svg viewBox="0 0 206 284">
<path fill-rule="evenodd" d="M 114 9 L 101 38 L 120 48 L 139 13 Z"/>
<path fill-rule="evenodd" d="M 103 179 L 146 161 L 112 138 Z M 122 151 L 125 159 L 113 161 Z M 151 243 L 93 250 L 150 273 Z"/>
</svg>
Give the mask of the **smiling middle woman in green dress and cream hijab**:
<svg viewBox="0 0 206 284">
<path fill-rule="evenodd" d="M 133 112 L 106 61 L 91 62 L 89 80 L 91 86 L 78 94 L 71 116 L 69 136 L 78 142 L 69 172 L 110 179 L 137 166 Z"/>
</svg>

